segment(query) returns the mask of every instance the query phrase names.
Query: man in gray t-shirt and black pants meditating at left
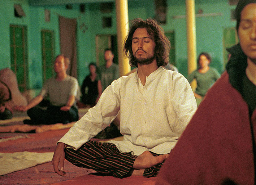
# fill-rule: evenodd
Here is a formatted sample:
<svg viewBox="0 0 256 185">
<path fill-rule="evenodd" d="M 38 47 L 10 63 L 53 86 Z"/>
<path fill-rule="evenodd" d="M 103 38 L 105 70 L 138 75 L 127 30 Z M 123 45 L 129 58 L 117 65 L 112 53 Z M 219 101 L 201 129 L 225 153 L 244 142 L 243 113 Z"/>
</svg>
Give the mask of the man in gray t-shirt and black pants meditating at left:
<svg viewBox="0 0 256 185">
<path fill-rule="evenodd" d="M 56 77 L 49 78 L 43 89 L 27 106 L 16 107 L 16 110 L 27 111 L 31 118 L 24 120 L 25 124 L 55 124 L 69 123 L 78 120 L 78 110 L 75 105 L 78 97 L 79 85 L 76 78 L 67 75 L 69 59 L 58 55 L 54 63 Z M 46 110 L 36 107 L 46 96 L 50 105 Z"/>
</svg>

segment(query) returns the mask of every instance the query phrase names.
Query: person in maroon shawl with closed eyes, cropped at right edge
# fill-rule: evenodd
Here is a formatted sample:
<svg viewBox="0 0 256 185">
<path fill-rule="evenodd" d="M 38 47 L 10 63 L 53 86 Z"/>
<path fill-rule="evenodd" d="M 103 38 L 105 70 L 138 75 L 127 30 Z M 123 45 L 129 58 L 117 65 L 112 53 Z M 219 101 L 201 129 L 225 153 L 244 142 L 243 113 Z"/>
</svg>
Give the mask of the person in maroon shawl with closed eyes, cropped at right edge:
<svg viewBox="0 0 256 185">
<path fill-rule="evenodd" d="M 235 9 L 239 44 L 160 169 L 156 185 L 255 184 L 256 0 Z"/>
</svg>

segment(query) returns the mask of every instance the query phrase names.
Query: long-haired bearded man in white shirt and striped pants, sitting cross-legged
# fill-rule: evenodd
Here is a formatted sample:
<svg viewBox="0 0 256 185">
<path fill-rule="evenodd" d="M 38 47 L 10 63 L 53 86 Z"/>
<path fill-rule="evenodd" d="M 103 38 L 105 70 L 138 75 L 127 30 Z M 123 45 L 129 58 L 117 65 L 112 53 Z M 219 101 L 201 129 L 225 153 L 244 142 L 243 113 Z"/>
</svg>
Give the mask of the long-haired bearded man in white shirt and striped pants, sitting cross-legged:
<svg viewBox="0 0 256 185">
<path fill-rule="evenodd" d="M 186 78 L 161 67 L 168 63 L 169 48 L 155 21 L 131 22 L 124 51 L 138 69 L 114 80 L 96 106 L 58 141 L 52 159 L 58 175 L 65 175 L 64 158 L 118 178 L 157 175 L 197 108 Z M 123 141 L 89 141 L 119 112 Z"/>
</svg>

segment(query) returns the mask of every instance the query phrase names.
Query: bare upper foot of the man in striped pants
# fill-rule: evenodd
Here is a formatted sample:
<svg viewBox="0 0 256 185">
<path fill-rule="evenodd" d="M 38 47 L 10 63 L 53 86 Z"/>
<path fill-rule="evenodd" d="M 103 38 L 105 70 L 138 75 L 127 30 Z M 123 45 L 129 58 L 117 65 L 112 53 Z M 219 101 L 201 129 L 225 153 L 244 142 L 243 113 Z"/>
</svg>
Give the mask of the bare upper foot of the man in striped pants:
<svg viewBox="0 0 256 185">
<path fill-rule="evenodd" d="M 142 154 L 138 155 L 138 157 L 135 159 L 133 168 L 134 169 L 146 169 L 150 168 L 152 166 L 155 166 L 156 164 L 159 164 L 163 162 L 169 154 L 159 155 L 159 156 L 153 156 L 149 151 L 145 151 Z"/>
</svg>

